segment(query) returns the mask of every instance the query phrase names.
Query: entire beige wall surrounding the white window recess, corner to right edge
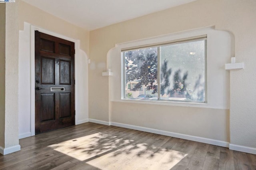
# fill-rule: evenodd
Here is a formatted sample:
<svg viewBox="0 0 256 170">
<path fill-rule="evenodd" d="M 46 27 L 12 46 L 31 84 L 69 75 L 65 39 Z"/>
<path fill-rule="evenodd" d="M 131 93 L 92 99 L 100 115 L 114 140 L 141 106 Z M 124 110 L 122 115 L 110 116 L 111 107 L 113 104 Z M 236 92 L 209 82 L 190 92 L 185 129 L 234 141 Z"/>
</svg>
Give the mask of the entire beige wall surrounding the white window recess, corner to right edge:
<svg viewBox="0 0 256 170">
<path fill-rule="evenodd" d="M 253 87 L 256 84 L 255 11 L 254 0 L 197 0 L 91 31 L 89 118 L 256 148 L 256 88 Z M 107 53 L 115 44 L 209 26 L 227 30 L 234 35 L 236 60 L 245 65 L 243 70 L 230 71 L 230 113 L 226 109 L 191 109 L 121 102 L 109 105 L 111 77 L 102 77 L 101 73 L 106 70 Z M 127 111 L 131 108 L 132 114 Z"/>
</svg>

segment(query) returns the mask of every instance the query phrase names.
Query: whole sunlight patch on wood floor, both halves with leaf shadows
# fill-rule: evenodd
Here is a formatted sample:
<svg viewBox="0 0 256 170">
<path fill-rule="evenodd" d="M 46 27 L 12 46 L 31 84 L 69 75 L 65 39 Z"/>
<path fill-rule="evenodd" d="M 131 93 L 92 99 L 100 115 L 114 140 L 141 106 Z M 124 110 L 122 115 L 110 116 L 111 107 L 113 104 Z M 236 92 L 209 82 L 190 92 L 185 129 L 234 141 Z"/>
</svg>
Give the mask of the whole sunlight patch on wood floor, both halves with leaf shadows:
<svg viewBox="0 0 256 170">
<path fill-rule="evenodd" d="M 49 147 L 101 170 L 170 170 L 187 155 L 100 132 Z"/>
</svg>

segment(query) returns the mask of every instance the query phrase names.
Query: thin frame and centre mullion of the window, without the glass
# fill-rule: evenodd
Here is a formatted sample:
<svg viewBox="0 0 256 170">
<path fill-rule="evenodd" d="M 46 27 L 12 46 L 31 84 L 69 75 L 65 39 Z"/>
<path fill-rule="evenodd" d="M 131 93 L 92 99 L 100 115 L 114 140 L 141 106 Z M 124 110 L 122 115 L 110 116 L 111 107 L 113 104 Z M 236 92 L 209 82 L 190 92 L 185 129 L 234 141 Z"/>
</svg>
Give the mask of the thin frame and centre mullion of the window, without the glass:
<svg viewBox="0 0 256 170">
<path fill-rule="evenodd" d="M 175 99 L 161 99 L 161 93 L 160 93 L 160 82 L 161 82 L 161 77 L 160 77 L 160 70 L 161 70 L 161 65 L 160 63 L 160 47 L 167 46 L 167 45 L 174 45 L 174 44 L 181 44 L 181 43 L 187 43 L 187 42 L 196 42 L 196 41 L 201 41 L 204 40 L 204 101 L 182 101 L 182 100 L 177 100 Z M 193 36 L 189 38 L 182 38 L 182 39 L 177 39 L 177 40 L 172 40 L 172 41 L 167 41 L 167 42 L 160 42 L 160 43 L 153 43 L 153 44 L 147 44 L 147 45 L 139 45 L 139 46 L 134 46 L 134 47 L 129 47 L 129 48 L 122 48 L 121 49 L 121 56 L 122 56 L 122 77 L 123 77 L 123 91 L 122 95 L 124 96 L 124 99 L 128 100 L 133 100 L 133 101 L 138 101 L 136 99 L 129 99 L 126 98 L 126 93 L 125 93 L 125 88 L 126 88 L 126 70 L 125 70 L 125 55 L 124 53 L 126 51 L 133 51 L 133 50 L 138 50 L 138 49 L 146 49 L 146 48 L 151 48 L 151 47 L 157 47 L 157 59 L 158 59 L 158 64 L 157 64 L 157 100 L 151 100 L 151 101 L 164 101 L 164 102 L 182 102 L 182 103 L 201 103 L 201 104 L 207 104 L 207 35 L 200 35 L 200 36 Z M 142 86 L 143 87 L 143 86 Z M 145 100 L 149 101 L 149 100 Z"/>
</svg>

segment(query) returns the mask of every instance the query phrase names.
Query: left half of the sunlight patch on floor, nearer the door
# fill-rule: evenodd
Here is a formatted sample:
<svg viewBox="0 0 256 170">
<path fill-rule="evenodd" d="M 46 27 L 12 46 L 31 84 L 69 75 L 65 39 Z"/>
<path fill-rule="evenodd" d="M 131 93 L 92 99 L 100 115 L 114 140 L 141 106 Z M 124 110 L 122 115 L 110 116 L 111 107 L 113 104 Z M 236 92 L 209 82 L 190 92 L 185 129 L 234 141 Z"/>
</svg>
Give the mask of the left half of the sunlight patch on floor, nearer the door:
<svg viewBox="0 0 256 170">
<path fill-rule="evenodd" d="M 58 144 L 52 144 L 49 147 L 80 161 L 84 161 L 132 141 L 98 132 Z"/>
</svg>

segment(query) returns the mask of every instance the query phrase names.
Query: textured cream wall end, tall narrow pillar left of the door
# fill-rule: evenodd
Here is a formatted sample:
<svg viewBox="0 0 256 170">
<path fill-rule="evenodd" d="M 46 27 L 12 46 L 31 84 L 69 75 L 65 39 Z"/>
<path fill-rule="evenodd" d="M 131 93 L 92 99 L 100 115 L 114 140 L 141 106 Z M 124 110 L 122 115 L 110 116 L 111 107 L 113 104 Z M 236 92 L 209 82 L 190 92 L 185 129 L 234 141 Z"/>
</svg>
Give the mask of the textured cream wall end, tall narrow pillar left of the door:
<svg viewBox="0 0 256 170">
<path fill-rule="evenodd" d="M 18 5 L 6 4 L 5 148 L 18 140 Z"/>
</svg>

